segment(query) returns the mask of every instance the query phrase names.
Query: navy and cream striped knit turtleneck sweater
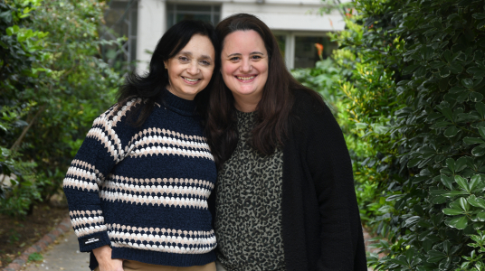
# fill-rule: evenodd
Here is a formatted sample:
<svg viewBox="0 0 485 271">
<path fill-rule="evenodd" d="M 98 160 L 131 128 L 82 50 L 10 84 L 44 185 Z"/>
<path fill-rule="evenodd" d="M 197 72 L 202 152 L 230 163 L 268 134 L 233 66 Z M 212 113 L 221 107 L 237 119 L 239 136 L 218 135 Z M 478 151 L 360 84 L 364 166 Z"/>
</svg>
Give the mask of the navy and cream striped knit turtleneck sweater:
<svg viewBox="0 0 485 271">
<path fill-rule="evenodd" d="M 164 266 L 213 262 L 207 198 L 216 168 L 195 102 L 165 90 L 144 125 L 129 126 L 127 113 L 140 103 L 96 118 L 66 174 L 80 250 L 109 245 L 113 258 Z"/>
</svg>

